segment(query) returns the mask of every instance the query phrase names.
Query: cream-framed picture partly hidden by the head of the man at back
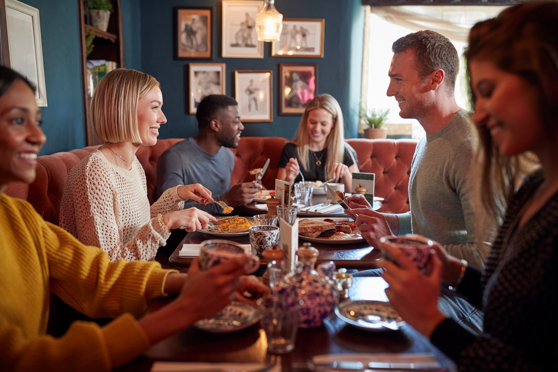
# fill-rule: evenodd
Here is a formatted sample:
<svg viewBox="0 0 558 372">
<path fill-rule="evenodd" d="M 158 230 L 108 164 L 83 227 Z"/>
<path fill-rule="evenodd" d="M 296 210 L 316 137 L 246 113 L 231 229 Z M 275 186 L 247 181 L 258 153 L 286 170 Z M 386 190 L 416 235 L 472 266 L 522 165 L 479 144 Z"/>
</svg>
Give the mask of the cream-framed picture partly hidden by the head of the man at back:
<svg viewBox="0 0 558 372">
<path fill-rule="evenodd" d="M 225 94 L 224 63 L 191 63 L 188 65 L 190 114 L 195 114 L 201 100 L 210 94 Z"/>
</svg>

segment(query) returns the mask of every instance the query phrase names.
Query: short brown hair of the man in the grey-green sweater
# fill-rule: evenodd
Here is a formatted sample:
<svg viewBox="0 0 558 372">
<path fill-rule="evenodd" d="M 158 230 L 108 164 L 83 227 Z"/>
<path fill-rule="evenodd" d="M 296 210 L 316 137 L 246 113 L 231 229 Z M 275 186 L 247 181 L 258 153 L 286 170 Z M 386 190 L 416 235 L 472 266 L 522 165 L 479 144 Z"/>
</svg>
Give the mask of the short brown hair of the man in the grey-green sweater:
<svg viewBox="0 0 558 372">
<path fill-rule="evenodd" d="M 398 38 L 392 45 L 394 53 L 415 50 L 415 65 L 421 79 L 432 71 L 442 69 L 451 93 L 455 89 L 455 76 L 459 70 L 459 55 L 451 41 L 431 30 L 413 32 Z"/>
</svg>

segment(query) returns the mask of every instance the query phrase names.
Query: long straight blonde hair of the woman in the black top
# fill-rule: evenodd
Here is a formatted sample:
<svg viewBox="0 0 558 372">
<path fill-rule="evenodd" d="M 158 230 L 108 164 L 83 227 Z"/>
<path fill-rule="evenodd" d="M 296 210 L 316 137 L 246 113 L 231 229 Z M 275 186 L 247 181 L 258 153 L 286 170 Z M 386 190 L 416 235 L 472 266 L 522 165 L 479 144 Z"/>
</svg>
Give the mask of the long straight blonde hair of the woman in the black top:
<svg viewBox="0 0 558 372">
<path fill-rule="evenodd" d="M 316 95 L 314 99 L 306 104 L 306 109 L 304 110 L 304 114 L 302 114 L 302 119 L 300 120 L 299 132 L 292 142 L 297 145 L 297 153 L 302 167 L 304 167 L 305 170 L 308 170 L 310 167 L 308 114 L 312 110 L 316 109 L 324 109 L 333 117 L 333 128 L 331 128 L 331 132 L 329 133 L 326 142 L 328 157 L 325 161 L 325 176 L 329 179 L 333 173 L 334 164 L 343 163 L 343 156 L 345 153 L 343 113 L 341 112 L 339 103 L 335 98 L 333 98 L 333 96 L 329 94 Z M 349 151 L 349 154 L 353 157 L 352 152 Z M 353 161 L 355 163 L 357 162 L 354 159 Z"/>
</svg>

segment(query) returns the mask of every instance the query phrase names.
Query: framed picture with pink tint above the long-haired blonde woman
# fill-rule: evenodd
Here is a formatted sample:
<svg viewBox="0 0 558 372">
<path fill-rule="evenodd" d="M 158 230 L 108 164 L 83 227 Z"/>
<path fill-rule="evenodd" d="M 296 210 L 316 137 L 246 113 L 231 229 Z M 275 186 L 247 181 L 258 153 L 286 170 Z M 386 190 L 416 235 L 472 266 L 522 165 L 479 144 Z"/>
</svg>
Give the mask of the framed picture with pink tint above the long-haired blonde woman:
<svg viewBox="0 0 558 372">
<path fill-rule="evenodd" d="M 279 65 L 279 114 L 302 115 L 318 91 L 317 64 Z"/>
</svg>

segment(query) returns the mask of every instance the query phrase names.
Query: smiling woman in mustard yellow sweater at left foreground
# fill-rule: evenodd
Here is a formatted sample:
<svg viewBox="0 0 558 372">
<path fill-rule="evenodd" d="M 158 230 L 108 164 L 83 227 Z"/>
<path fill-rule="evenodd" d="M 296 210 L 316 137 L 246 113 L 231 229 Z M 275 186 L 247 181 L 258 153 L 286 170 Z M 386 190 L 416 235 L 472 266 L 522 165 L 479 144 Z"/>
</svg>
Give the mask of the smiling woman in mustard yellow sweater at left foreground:
<svg viewBox="0 0 558 372">
<path fill-rule="evenodd" d="M 35 179 L 45 135 L 35 93 L 21 75 L 0 66 L 0 369 L 108 371 L 196 320 L 213 316 L 235 291 L 267 291 L 240 277 L 247 259 L 191 276 L 156 262 L 111 262 L 28 202 L 4 194 L 10 182 Z M 46 335 L 50 294 L 89 317 L 115 317 L 107 326 L 75 322 L 59 339 Z M 153 298 L 178 294 L 140 317 Z"/>
</svg>

